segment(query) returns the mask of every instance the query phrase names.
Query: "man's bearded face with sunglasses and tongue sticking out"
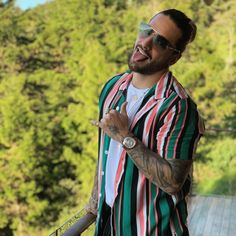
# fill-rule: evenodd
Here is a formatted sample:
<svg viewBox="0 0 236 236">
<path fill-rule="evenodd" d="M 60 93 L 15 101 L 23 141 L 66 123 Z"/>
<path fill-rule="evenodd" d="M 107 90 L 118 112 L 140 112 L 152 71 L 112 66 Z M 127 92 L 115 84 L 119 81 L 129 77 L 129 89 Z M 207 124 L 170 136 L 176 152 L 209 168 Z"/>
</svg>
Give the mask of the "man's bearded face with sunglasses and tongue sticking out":
<svg viewBox="0 0 236 236">
<path fill-rule="evenodd" d="M 145 75 L 167 69 L 181 56 L 174 50 L 181 30 L 169 16 L 158 14 L 148 25 L 146 27 L 152 28 L 152 33 L 139 33 L 128 63 L 132 71 Z"/>
</svg>

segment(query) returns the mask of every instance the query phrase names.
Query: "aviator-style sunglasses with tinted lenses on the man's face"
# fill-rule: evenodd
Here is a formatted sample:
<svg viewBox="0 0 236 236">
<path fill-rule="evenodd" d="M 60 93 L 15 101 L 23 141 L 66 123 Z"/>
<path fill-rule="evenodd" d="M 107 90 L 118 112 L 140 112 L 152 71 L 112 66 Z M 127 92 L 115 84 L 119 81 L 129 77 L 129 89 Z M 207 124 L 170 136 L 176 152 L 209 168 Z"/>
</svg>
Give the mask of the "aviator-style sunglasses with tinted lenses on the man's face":
<svg viewBox="0 0 236 236">
<path fill-rule="evenodd" d="M 149 24 L 141 22 L 139 25 L 139 36 L 147 38 L 153 35 L 153 44 L 160 49 L 170 49 L 177 53 L 180 53 L 180 50 L 174 48 L 171 43 L 163 36 L 158 34 Z"/>
</svg>

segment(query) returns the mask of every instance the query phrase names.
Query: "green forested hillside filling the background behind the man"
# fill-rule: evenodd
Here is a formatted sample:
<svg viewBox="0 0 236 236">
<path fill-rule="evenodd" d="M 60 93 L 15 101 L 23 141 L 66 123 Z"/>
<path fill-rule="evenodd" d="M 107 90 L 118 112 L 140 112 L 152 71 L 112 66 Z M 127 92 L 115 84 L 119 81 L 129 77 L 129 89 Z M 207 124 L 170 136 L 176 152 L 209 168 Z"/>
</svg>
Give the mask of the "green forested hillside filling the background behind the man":
<svg viewBox="0 0 236 236">
<path fill-rule="evenodd" d="M 127 70 L 141 20 L 177 8 L 198 26 L 172 68 L 206 124 L 193 192 L 236 195 L 236 2 L 0 1 L 0 235 L 48 235 L 81 210 L 97 159 L 98 97 Z"/>
</svg>

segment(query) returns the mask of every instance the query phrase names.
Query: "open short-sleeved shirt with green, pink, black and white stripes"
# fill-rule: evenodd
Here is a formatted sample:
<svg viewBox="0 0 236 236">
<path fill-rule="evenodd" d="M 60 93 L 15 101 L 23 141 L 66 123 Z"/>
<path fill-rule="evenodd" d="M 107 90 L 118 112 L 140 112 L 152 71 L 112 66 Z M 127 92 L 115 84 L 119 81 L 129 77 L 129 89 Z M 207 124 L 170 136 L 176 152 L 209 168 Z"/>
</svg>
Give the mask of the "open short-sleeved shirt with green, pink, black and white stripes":
<svg viewBox="0 0 236 236">
<path fill-rule="evenodd" d="M 126 100 L 132 73 L 109 80 L 100 95 L 100 119 L 107 108 L 118 109 Z M 146 147 L 165 159 L 193 158 L 201 136 L 197 107 L 178 81 L 168 72 L 145 95 L 135 114 L 131 132 Z M 105 179 L 110 137 L 99 132 L 98 215 L 95 235 L 105 202 Z M 115 175 L 112 204 L 112 235 L 188 235 L 185 197 L 191 180 L 181 191 L 169 195 L 149 181 L 123 149 Z"/>
</svg>

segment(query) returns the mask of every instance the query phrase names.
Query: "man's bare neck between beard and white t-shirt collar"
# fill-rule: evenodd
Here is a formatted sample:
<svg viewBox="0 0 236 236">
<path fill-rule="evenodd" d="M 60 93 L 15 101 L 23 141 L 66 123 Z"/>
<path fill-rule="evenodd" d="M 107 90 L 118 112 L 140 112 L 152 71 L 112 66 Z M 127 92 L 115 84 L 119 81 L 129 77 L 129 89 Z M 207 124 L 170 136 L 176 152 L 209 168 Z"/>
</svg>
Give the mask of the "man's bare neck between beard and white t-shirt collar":
<svg viewBox="0 0 236 236">
<path fill-rule="evenodd" d="M 152 75 L 143 75 L 137 72 L 133 72 L 132 84 L 136 88 L 144 89 L 151 88 L 154 84 L 156 84 L 160 78 L 166 73 L 168 70 L 158 71 Z"/>
</svg>

